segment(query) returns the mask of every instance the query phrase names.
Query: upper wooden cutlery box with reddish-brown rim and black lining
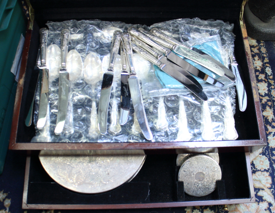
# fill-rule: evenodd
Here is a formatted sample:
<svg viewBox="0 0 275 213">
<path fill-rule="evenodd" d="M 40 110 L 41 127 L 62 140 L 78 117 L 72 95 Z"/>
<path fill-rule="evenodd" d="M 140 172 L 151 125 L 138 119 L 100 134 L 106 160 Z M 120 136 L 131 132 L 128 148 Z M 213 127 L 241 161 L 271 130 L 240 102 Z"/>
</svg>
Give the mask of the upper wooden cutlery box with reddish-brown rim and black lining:
<svg viewBox="0 0 275 213">
<path fill-rule="evenodd" d="M 105 1 L 104 1 L 105 2 Z M 21 70 L 19 75 L 19 84 L 17 86 L 15 108 L 13 113 L 13 124 L 10 137 L 10 149 L 24 149 L 24 150 L 42 150 L 42 149 L 143 149 L 148 151 L 168 152 L 171 150 L 181 150 L 182 148 L 218 148 L 219 151 L 254 151 L 266 145 L 265 130 L 262 120 L 260 102 L 258 97 L 258 90 L 256 84 L 253 63 L 249 50 L 245 25 L 240 25 L 238 20 L 237 5 L 241 1 L 234 3 L 227 1 L 224 5 L 217 5 L 214 1 L 203 3 L 201 1 L 188 2 L 175 1 L 171 6 L 179 5 L 178 8 L 168 7 L 159 8 L 147 6 L 145 2 L 139 2 L 140 7 L 131 7 L 131 5 L 124 6 L 122 1 L 118 1 L 121 7 L 112 6 L 113 3 L 106 1 L 108 7 L 99 7 L 99 3 L 91 5 L 88 1 L 83 1 L 84 5 L 89 8 L 77 7 L 73 1 L 70 1 L 66 8 L 60 8 L 58 1 L 50 1 L 49 5 L 45 5 L 43 1 L 34 1 L 33 3 L 36 18 L 34 20 L 32 29 L 27 29 L 26 41 L 22 58 Z M 103 2 L 101 2 L 103 5 Z M 206 4 L 208 10 L 203 13 L 202 10 L 196 8 L 196 5 Z M 226 4 L 228 4 L 226 6 Z M 73 6 L 74 5 L 74 6 Z M 211 8 L 211 5 L 213 8 Z M 215 7 L 214 7 L 215 5 Z M 99 8 L 98 8 L 99 7 Z M 189 12 L 187 8 L 189 7 Z M 221 8 L 219 8 L 221 7 Z M 57 9 L 58 8 L 58 9 Z M 98 11 L 96 10 L 98 8 Z M 190 14 L 190 8 L 196 8 Z M 234 9 L 233 9 L 234 8 Z M 217 14 L 213 15 L 211 11 L 217 10 Z M 81 12 L 82 11 L 82 12 Z M 123 15 L 120 13 L 122 12 Z M 127 12 L 126 12 L 127 11 Z M 131 11 L 131 12 L 129 12 Z M 170 11 L 164 13 L 163 11 Z M 226 11 L 226 12 L 225 12 Z M 247 93 L 247 109 L 244 112 L 239 111 L 238 100 L 236 100 L 235 113 L 235 128 L 239 135 L 236 141 L 196 141 L 193 142 L 145 142 L 145 143 L 31 143 L 31 139 L 35 135 L 35 127 L 32 124 L 30 127 L 25 126 L 25 117 L 27 113 L 27 106 L 31 100 L 26 100 L 27 91 L 33 82 L 30 82 L 31 73 L 36 63 L 36 55 L 39 46 L 39 28 L 45 27 L 45 23 L 50 21 L 64 21 L 70 19 L 101 19 L 101 20 L 119 20 L 131 24 L 151 24 L 162 22 L 164 20 L 171 20 L 175 18 L 185 17 L 200 17 L 201 19 L 221 19 L 234 23 L 233 33 L 236 35 L 235 39 L 235 54 L 239 65 L 242 68 L 240 73 L 244 81 Z M 195 151 L 195 150 L 192 150 Z"/>
</svg>

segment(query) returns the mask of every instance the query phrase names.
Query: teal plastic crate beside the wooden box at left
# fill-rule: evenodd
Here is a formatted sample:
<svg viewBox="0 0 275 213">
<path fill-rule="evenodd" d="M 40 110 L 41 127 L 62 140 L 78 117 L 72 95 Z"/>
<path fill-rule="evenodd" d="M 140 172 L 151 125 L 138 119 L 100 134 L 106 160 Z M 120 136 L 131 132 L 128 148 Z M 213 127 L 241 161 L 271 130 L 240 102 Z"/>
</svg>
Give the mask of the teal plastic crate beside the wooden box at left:
<svg viewBox="0 0 275 213">
<path fill-rule="evenodd" d="M 3 171 L 17 82 L 10 72 L 21 34 L 25 36 L 26 16 L 21 1 L 0 0 L 0 174 Z"/>
</svg>

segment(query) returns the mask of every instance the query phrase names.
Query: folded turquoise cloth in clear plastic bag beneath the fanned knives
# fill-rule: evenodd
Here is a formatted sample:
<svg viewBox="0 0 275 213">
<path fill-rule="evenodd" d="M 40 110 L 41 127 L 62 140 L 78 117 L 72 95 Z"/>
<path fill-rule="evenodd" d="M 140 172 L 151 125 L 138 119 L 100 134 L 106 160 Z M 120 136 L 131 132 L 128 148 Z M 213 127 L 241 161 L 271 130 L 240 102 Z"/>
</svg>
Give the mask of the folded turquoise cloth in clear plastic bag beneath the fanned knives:
<svg viewBox="0 0 275 213">
<path fill-rule="evenodd" d="M 196 47 L 197 49 L 205 52 L 206 54 L 212 56 L 213 58 L 215 58 L 217 61 L 221 62 L 223 64 L 223 60 L 221 58 L 221 54 L 219 52 L 219 46 L 217 44 L 217 41 L 211 41 L 211 42 L 205 42 L 202 45 L 195 45 L 194 47 Z M 177 54 L 177 53 L 175 53 Z M 203 67 L 202 65 L 189 60 L 188 58 L 185 58 L 179 54 L 177 54 L 178 56 L 180 56 L 182 59 L 184 59 L 185 61 L 187 61 L 188 63 L 190 63 L 191 65 L 193 65 L 194 67 L 198 68 L 199 70 L 203 71 L 204 73 L 206 73 L 207 75 L 218 79 L 220 76 L 215 74 L 214 72 L 210 71 L 209 69 Z M 173 79 L 170 75 L 166 74 L 165 72 L 163 72 L 162 70 L 160 70 L 156 65 L 154 65 L 155 68 L 155 74 L 157 76 L 157 78 L 159 79 L 159 82 L 162 84 L 163 88 L 168 88 L 168 89 L 175 89 L 175 88 L 183 88 L 184 86 L 178 82 L 177 80 Z M 194 76 L 194 75 L 193 75 Z M 199 79 L 198 77 L 194 76 L 194 78 L 200 83 L 200 84 L 204 84 L 205 81 Z"/>
</svg>

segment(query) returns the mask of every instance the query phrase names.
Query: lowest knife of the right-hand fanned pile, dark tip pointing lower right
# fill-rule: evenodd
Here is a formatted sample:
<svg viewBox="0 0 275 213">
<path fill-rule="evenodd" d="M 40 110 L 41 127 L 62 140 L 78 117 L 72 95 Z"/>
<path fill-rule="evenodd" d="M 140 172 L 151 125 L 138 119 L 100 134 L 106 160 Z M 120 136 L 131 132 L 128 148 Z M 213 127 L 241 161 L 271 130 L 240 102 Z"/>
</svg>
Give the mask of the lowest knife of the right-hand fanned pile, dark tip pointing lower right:
<svg viewBox="0 0 275 213">
<path fill-rule="evenodd" d="M 173 67 L 166 65 L 162 63 L 161 61 L 157 60 L 154 56 L 146 52 L 141 47 L 138 47 L 136 44 L 132 44 L 132 48 L 134 51 L 136 51 L 138 54 L 146 58 L 147 60 L 151 61 L 155 65 L 157 65 L 162 71 L 179 81 L 182 85 L 184 85 L 187 89 L 189 89 L 192 93 L 194 93 L 196 96 L 198 96 L 201 100 L 207 101 L 207 96 L 199 88 L 194 82 L 192 82 L 187 76 L 180 73 L 178 70 L 175 70 Z"/>
</svg>

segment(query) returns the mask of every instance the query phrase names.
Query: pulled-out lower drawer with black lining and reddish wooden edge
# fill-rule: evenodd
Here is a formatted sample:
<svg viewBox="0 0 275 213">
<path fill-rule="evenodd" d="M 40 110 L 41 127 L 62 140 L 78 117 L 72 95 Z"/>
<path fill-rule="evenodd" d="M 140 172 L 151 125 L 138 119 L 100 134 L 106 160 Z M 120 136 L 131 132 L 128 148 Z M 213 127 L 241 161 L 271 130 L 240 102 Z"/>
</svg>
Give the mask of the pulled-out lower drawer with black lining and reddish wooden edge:
<svg viewBox="0 0 275 213">
<path fill-rule="evenodd" d="M 24 209 L 117 209 L 177 207 L 254 202 L 253 183 L 246 152 L 220 153 L 222 180 L 214 192 L 193 197 L 177 181 L 177 155 L 147 155 L 130 182 L 108 192 L 80 194 L 57 184 L 44 170 L 37 155 L 27 157 Z"/>
</svg>

